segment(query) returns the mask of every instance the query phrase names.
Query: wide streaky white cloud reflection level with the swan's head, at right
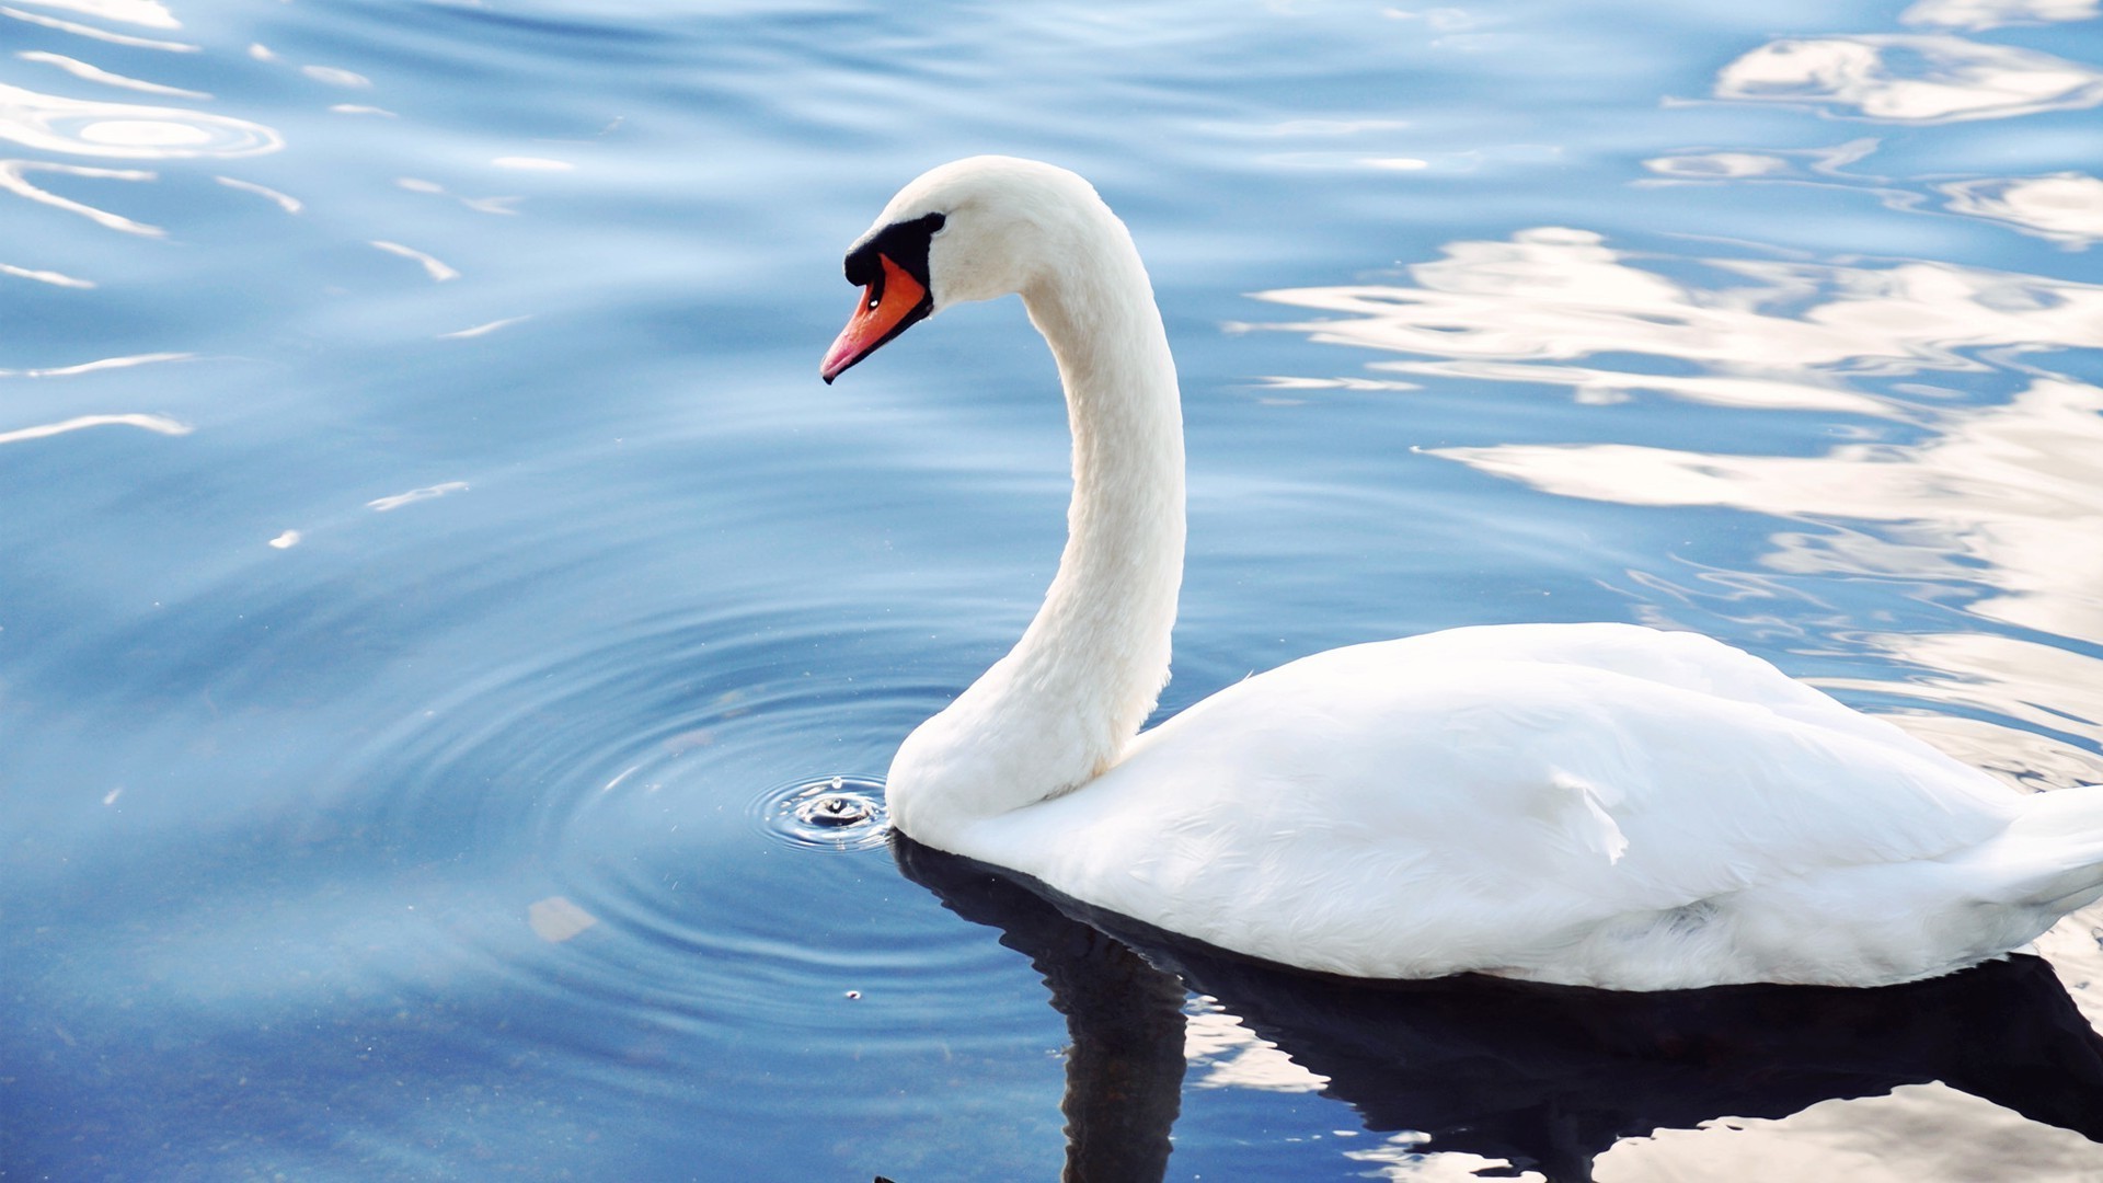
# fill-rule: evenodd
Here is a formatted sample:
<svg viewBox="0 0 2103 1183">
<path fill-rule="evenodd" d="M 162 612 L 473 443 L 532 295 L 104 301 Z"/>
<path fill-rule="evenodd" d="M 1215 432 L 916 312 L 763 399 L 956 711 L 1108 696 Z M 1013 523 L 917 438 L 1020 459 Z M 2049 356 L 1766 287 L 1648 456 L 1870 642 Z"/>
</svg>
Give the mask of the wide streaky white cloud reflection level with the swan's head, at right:
<svg viewBox="0 0 2103 1183">
<path fill-rule="evenodd" d="M 2103 345 L 2103 286 L 1952 263 L 1701 259 L 1741 280 L 1701 288 L 1584 229 L 1525 229 L 1510 242 L 1453 242 L 1443 253 L 1407 267 L 1409 286 L 1258 293 L 1340 314 L 1264 328 L 1441 358 L 1375 362 L 1380 370 L 1563 385 L 1594 402 L 1649 389 L 1691 402 L 1859 415 L 1899 410 L 1849 389 L 1851 377 L 1979 370 L 1964 352 L 1981 347 Z M 1708 373 L 1558 364 L 1609 354 Z"/>
</svg>

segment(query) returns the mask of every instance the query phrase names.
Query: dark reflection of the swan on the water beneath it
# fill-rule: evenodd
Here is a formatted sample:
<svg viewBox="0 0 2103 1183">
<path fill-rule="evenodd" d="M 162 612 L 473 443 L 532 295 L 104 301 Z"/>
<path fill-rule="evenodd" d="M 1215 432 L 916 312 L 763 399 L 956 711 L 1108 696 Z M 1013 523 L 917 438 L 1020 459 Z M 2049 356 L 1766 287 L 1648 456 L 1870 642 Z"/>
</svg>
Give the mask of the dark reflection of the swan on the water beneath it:
<svg viewBox="0 0 2103 1183">
<path fill-rule="evenodd" d="M 1327 1078 L 1323 1092 L 1367 1128 L 1420 1130 L 1420 1149 L 1548 1179 L 1590 1179 L 1592 1160 L 1624 1137 L 1785 1118 L 1937 1080 L 2103 1141 L 2103 1038 L 2034 956 L 1882 989 L 1369 983 L 1249 962 L 1054 901 L 904 836 L 892 850 L 951 911 L 1001 928 L 1066 1015 L 1066 1179 L 1163 1177 L 1186 989 Z"/>
</svg>

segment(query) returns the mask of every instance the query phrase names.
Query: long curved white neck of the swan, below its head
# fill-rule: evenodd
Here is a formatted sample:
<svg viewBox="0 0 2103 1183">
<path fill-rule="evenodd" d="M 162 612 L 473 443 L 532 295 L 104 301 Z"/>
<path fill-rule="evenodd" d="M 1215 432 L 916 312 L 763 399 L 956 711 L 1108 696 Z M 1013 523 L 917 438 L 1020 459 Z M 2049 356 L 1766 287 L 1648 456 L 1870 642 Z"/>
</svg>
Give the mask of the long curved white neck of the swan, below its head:
<svg viewBox="0 0 2103 1183">
<path fill-rule="evenodd" d="M 1123 223 L 1022 293 L 1058 358 L 1073 425 L 1066 552 L 1022 640 L 892 764 L 892 817 L 951 825 L 1073 789 L 1138 735 L 1169 674 L 1184 558 L 1176 362 Z"/>
</svg>

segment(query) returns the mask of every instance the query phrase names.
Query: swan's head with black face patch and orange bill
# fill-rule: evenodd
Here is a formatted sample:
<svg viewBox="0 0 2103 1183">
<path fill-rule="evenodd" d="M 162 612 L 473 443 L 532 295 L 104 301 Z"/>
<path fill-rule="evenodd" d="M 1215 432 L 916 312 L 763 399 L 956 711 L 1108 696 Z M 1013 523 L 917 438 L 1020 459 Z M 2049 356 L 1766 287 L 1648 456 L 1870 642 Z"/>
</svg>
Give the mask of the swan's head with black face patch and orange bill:
<svg viewBox="0 0 2103 1183">
<path fill-rule="evenodd" d="M 972 156 L 923 173 L 848 248 L 862 301 L 818 377 L 837 379 L 953 303 L 1026 290 L 1098 210 L 1108 215 L 1087 181 L 1037 160 Z"/>
</svg>

